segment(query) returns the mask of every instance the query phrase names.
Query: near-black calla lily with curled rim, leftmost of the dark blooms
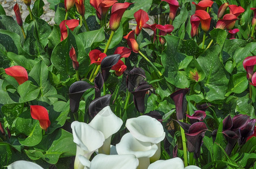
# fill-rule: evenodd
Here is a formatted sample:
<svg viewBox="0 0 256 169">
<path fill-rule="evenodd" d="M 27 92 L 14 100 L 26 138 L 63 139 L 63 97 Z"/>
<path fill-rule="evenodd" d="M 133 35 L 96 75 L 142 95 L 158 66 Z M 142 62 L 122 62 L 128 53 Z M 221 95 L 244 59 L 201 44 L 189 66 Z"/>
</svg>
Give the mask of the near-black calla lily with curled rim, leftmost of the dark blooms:
<svg viewBox="0 0 256 169">
<path fill-rule="evenodd" d="M 72 113 L 79 108 L 79 103 L 85 91 L 93 86 L 85 81 L 77 81 L 69 87 L 70 110 Z"/>
</svg>

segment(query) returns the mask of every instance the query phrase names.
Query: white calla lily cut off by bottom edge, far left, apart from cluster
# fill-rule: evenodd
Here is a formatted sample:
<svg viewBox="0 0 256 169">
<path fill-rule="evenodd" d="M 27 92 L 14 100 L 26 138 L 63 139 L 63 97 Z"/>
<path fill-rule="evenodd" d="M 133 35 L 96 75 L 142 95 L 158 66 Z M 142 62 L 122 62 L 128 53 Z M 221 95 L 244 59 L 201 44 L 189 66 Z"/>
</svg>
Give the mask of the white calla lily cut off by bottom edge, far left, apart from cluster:
<svg viewBox="0 0 256 169">
<path fill-rule="evenodd" d="M 7 166 L 8 169 L 20 169 L 20 168 L 33 168 L 33 169 L 44 169 L 39 164 L 29 162 L 29 161 L 15 161 L 14 163 L 11 163 Z"/>
</svg>

